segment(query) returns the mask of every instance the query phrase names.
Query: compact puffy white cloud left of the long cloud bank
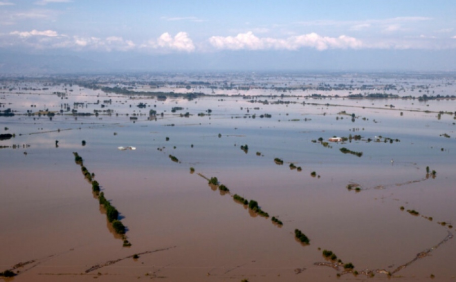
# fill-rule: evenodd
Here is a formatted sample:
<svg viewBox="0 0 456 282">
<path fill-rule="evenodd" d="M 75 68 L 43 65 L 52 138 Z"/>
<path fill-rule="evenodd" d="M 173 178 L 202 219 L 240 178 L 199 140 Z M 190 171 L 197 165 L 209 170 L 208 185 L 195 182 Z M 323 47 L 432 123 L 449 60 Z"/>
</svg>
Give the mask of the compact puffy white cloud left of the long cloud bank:
<svg viewBox="0 0 456 282">
<path fill-rule="evenodd" d="M 195 51 L 195 45 L 186 32 L 179 32 L 172 37 L 168 32 L 163 33 L 160 37 L 154 41 L 150 40 L 146 44 L 141 45 L 142 48 L 152 48 L 160 50 L 174 50 L 193 52 Z"/>
</svg>

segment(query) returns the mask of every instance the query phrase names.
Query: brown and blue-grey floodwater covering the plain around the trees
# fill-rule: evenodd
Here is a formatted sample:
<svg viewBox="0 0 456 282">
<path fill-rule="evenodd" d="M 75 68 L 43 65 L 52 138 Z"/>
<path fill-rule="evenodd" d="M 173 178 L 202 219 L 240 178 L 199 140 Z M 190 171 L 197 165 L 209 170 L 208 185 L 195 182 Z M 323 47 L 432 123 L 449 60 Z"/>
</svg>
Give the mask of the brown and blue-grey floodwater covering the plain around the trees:
<svg viewBox="0 0 456 282">
<path fill-rule="evenodd" d="M 456 120 L 438 116 L 454 112 L 455 100 L 157 101 L 80 87 L 62 99 L 52 94 L 61 88 L 0 94 L 1 109 L 17 111 L 0 117 L 2 134 L 15 134 L 0 141 L 0 271 L 25 263 L 12 281 L 361 281 L 370 273 L 388 280 L 388 272 L 403 281 L 456 279 L 450 226 L 456 226 Z M 279 100 L 290 103 L 273 103 Z M 136 107 L 140 102 L 146 108 Z M 26 115 L 58 112 L 63 103 L 113 113 Z M 190 116 L 179 116 L 185 112 Z M 362 138 L 318 141 L 349 135 Z M 247 152 L 240 148 L 246 144 Z M 119 210 L 131 247 L 122 247 L 109 227 L 72 152 Z M 428 166 L 435 176 L 427 175 Z M 230 193 L 214 191 L 201 175 L 217 177 Z M 270 217 L 249 212 L 234 194 L 256 200 Z M 294 238 L 296 228 L 310 245 Z M 330 262 L 323 250 L 353 263 L 359 274 L 320 265 Z"/>
</svg>

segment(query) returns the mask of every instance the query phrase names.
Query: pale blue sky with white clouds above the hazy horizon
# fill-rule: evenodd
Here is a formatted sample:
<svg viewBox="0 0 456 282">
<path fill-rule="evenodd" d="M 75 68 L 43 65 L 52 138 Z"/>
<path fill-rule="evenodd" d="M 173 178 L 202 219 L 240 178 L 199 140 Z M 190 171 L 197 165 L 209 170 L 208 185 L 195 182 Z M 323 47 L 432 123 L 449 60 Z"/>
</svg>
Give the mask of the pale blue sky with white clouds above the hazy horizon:
<svg viewBox="0 0 456 282">
<path fill-rule="evenodd" d="M 455 70 L 454 15 L 454 0 L 0 0 L 0 55 L 117 68 Z"/>
</svg>

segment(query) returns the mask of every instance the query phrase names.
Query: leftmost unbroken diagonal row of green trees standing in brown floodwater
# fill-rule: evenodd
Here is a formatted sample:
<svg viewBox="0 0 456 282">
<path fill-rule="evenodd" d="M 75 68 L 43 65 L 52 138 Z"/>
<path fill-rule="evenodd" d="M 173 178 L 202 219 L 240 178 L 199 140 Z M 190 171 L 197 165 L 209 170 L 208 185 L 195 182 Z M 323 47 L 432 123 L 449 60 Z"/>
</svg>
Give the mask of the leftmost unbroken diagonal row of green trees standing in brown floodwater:
<svg viewBox="0 0 456 282">
<path fill-rule="evenodd" d="M 92 192 L 97 196 L 98 202 L 101 206 L 103 206 L 106 212 L 106 218 L 111 224 L 114 231 L 122 235 L 123 239 L 123 246 L 130 247 L 131 243 L 127 240 L 125 236 L 126 228 L 124 224 L 119 220 L 119 211 L 116 207 L 112 206 L 109 200 L 106 199 L 104 196 L 104 192 L 100 192 L 100 184 L 98 181 L 94 180 L 95 177 L 94 173 L 90 173 L 87 168 L 84 166 L 83 158 L 77 153 L 73 152 L 74 155 L 74 162 L 81 166 L 81 171 L 84 174 L 84 177 L 92 184 Z"/>
</svg>

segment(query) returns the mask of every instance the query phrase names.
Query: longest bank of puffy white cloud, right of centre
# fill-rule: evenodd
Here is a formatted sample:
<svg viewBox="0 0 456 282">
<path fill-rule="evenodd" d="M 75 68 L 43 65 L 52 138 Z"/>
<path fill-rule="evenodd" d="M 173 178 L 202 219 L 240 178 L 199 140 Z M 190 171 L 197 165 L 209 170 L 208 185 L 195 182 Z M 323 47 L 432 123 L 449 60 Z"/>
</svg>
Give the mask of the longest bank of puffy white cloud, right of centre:
<svg viewBox="0 0 456 282">
<path fill-rule="evenodd" d="M 257 37 L 253 32 L 239 33 L 236 36 L 212 36 L 209 43 L 220 50 L 297 50 L 303 47 L 317 50 L 326 49 L 358 49 L 362 42 L 346 35 L 339 37 L 321 36 L 317 33 L 290 36 L 285 39 Z"/>
</svg>

